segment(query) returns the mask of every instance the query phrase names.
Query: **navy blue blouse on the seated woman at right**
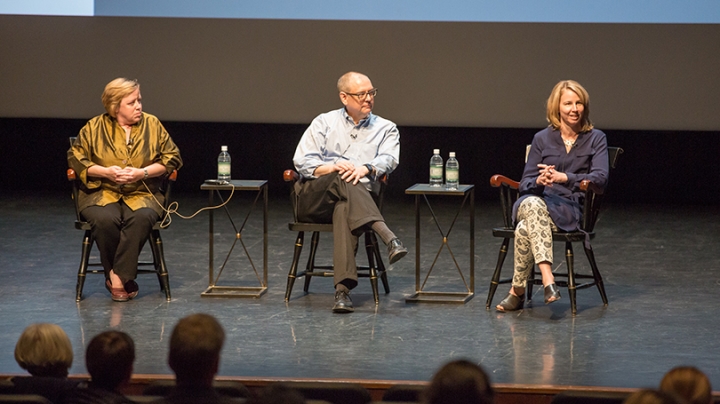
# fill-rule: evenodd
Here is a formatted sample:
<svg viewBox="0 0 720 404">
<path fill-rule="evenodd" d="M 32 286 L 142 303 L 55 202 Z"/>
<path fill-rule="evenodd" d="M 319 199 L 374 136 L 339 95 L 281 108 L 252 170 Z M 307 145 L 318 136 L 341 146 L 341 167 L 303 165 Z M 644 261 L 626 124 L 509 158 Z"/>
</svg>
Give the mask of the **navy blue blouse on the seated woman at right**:
<svg viewBox="0 0 720 404">
<path fill-rule="evenodd" d="M 567 175 L 568 182 L 555 183 L 552 187 L 539 185 L 536 182 L 540 175 L 538 164 L 554 165 L 556 171 Z M 517 207 L 523 199 L 530 195 L 540 196 L 558 228 L 575 230 L 580 225 L 584 196 L 580 182 L 590 180 L 605 188 L 608 173 L 605 133 L 597 129 L 581 133 L 570 152 L 566 152 L 560 131 L 547 127 L 533 138 L 520 181 L 520 198 L 513 206 L 513 217 L 517 217 Z"/>
</svg>

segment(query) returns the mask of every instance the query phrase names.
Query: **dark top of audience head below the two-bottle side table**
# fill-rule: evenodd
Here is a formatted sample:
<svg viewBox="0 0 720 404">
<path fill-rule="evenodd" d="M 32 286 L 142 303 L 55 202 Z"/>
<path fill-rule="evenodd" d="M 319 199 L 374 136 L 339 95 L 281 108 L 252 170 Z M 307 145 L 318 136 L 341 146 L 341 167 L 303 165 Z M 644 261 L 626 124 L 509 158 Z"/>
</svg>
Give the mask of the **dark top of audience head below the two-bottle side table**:
<svg viewBox="0 0 720 404">
<path fill-rule="evenodd" d="M 423 404 L 491 404 L 495 393 L 482 368 L 460 359 L 444 365 L 422 393 Z"/>
</svg>

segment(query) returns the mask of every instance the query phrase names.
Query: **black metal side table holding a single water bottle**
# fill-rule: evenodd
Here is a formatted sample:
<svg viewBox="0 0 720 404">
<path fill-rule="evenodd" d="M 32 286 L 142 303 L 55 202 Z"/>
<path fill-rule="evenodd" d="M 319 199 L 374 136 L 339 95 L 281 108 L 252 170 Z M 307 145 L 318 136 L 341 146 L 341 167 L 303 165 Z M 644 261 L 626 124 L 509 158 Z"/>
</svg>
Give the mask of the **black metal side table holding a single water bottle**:
<svg viewBox="0 0 720 404">
<path fill-rule="evenodd" d="M 235 230 L 235 240 L 233 241 L 232 245 L 230 246 L 230 249 L 228 250 L 227 256 L 225 257 L 225 260 L 220 266 L 220 269 L 218 271 L 217 276 L 214 276 L 214 256 L 215 256 L 215 240 L 214 240 L 214 212 L 215 209 L 210 209 L 210 233 L 209 233 L 209 255 L 210 255 L 210 262 L 209 262 L 209 283 L 208 288 L 205 289 L 204 292 L 201 293 L 201 296 L 203 297 L 260 297 L 265 292 L 267 292 L 267 265 L 268 265 L 268 185 L 267 181 L 265 180 L 230 180 L 230 184 L 226 185 L 215 185 L 215 184 L 207 184 L 203 183 L 200 185 L 200 189 L 203 191 L 209 191 L 209 199 L 208 199 L 208 206 L 215 206 L 215 196 L 217 196 L 220 199 L 220 204 L 225 202 L 225 199 L 223 198 L 223 195 L 221 191 L 230 191 L 230 192 L 238 192 L 238 191 L 255 191 L 257 192 L 255 196 L 255 200 L 253 201 L 252 205 L 250 206 L 250 209 L 248 210 L 247 214 L 245 215 L 245 219 L 242 222 L 242 225 L 240 225 L 240 228 L 238 228 L 235 224 L 235 221 L 233 220 L 232 216 L 230 215 L 230 211 L 227 208 L 227 205 L 223 206 L 223 209 L 225 210 L 225 214 L 227 215 L 228 220 L 230 220 L 230 223 L 233 226 L 233 229 Z M 258 200 L 260 200 L 260 197 L 262 196 L 262 206 L 263 206 L 263 269 L 262 269 L 262 278 L 260 278 L 260 274 L 258 273 L 258 270 L 255 266 L 255 263 L 252 260 L 252 257 L 250 256 L 250 253 L 248 252 L 247 246 L 245 245 L 245 242 L 242 238 L 242 232 L 245 228 L 245 225 L 248 222 L 248 218 L 252 214 L 255 206 L 258 203 Z M 230 255 L 232 254 L 233 250 L 235 249 L 235 246 L 237 245 L 238 241 L 240 242 L 240 245 L 242 246 L 243 252 L 245 253 L 245 256 L 247 257 L 250 266 L 252 267 L 253 271 L 255 272 L 255 276 L 258 279 L 259 286 L 219 286 L 217 283 L 220 280 L 220 275 L 222 275 L 223 270 L 225 269 L 228 260 L 230 258 Z"/>
</svg>

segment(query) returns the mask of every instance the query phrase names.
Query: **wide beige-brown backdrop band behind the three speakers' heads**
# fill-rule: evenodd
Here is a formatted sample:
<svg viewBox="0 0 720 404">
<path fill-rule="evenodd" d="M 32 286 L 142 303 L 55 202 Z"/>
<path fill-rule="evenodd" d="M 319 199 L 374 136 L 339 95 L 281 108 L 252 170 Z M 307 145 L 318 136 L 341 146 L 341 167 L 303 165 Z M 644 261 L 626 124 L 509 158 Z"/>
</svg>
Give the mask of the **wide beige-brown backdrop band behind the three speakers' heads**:
<svg viewBox="0 0 720 404">
<path fill-rule="evenodd" d="M 0 16 L 0 117 L 90 118 L 126 76 L 162 120 L 305 123 L 348 70 L 400 125 L 541 127 L 572 78 L 600 128 L 720 129 L 720 25 Z"/>
</svg>

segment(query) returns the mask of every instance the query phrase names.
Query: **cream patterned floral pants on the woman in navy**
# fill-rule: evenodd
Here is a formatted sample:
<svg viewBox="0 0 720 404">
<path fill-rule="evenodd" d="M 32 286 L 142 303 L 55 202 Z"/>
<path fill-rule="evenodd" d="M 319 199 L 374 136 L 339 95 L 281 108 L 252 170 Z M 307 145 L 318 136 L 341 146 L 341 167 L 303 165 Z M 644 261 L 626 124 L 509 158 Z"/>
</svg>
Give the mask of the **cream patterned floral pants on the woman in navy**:
<svg viewBox="0 0 720 404">
<path fill-rule="evenodd" d="M 524 288 L 535 264 L 553 262 L 552 221 L 542 198 L 530 196 L 520 203 L 515 227 L 515 273 L 512 285 Z"/>
</svg>

